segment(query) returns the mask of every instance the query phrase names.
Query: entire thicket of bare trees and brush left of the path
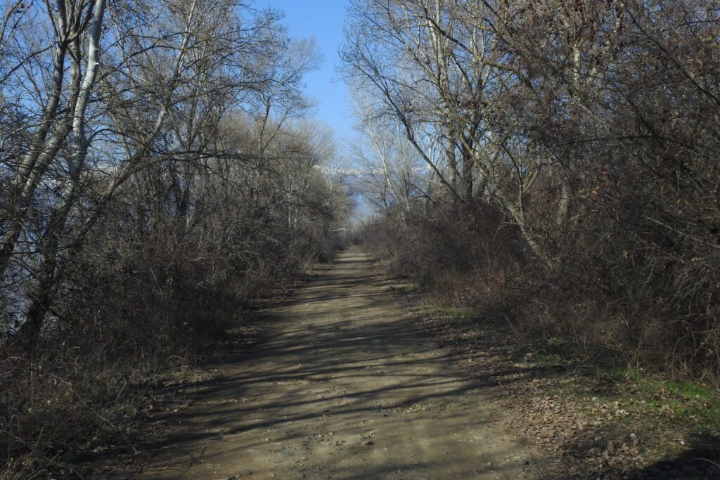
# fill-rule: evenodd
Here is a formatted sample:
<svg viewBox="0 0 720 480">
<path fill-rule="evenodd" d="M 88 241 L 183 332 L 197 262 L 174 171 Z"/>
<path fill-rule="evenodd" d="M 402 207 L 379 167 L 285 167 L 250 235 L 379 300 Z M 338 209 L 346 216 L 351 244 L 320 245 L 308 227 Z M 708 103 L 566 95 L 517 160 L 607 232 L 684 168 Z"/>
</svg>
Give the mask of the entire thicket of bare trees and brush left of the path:
<svg viewBox="0 0 720 480">
<path fill-rule="evenodd" d="M 117 443 L 139 386 L 332 254 L 346 199 L 330 133 L 300 120 L 318 55 L 279 19 L 3 4 L 0 469 Z"/>
</svg>

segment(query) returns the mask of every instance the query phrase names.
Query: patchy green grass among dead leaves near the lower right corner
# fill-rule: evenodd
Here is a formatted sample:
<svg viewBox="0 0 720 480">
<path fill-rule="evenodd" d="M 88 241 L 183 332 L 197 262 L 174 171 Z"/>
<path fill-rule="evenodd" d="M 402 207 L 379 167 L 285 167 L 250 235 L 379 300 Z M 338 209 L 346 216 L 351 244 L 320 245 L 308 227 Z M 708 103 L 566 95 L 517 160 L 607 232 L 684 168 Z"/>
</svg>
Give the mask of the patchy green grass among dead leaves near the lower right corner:
<svg viewBox="0 0 720 480">
<path fill-rule="evenodd" d="M 531 362 L 544 366 L 553 358 L 533 353 Z M 626 444 L 649 462 L 678 458 L 689 448 L 720 452 L 720 391 L 712 386 L 636 368 L 568 368 L 540 379 L 541 396 L 562 399 L 593 424 L 595 447 Z"/>
</svg>

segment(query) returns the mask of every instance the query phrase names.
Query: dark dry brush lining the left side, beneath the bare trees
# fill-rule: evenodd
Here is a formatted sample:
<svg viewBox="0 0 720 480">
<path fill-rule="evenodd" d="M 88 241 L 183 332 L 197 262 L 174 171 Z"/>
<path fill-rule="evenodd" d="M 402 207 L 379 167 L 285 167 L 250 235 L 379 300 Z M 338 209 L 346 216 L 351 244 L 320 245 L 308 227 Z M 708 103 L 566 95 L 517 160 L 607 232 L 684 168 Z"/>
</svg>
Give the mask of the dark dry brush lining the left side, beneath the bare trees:
<svg viewBox="0 0 720 480">
<path fill-rule="evenodd" d="M 132 449 L 136 421 L 161 379 L 215 358 L 258 299 L 286 290 L 338 245 L 333 231 L 343 212 L 332 204 L 344 199 L 312 167 L 296 172 L 313 188 L 292 204 L 278 188 L 283 174 L 243 188 L 225 181 L 232 172 L 201 170 L 189 211 L 166 169 L 153 173 L 133 178 L 107 206 L 83 255 L 66 257 L 30 353 L 12 337 L 4 345 L 0 471 L 7 476 L 71 474 L 87 450 Z"/>
</svg>

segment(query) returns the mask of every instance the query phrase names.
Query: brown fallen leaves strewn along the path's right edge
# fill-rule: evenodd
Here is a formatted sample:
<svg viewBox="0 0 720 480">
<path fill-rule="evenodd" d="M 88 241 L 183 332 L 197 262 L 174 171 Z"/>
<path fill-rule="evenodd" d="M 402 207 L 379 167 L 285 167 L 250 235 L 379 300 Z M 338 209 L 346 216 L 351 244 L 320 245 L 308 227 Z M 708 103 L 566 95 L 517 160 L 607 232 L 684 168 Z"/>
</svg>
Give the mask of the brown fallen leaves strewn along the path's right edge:
<svg viewBox="0 0 720 480">
<path fill-rule="evenodd" d="M 698 401 L 660 391 L 649 404 L 629 379 L 595 382 L 575 373 L 577 361 L 536 362 L 503 326 L 477 321 L 468 330 L 467 321 L 433 313 L 437 309 L 428 309 L 422 294 L 400 293 L 441 347 L 498 397 L 508 430 L 522 432 L 534 445 L 536 461 L 550 478 L 720 478 L 720 461 L 689 458 L 693 445 L 683 440 L 696 433 L 712 442 L 720 433 L 670 407 Z"/>
</svg>

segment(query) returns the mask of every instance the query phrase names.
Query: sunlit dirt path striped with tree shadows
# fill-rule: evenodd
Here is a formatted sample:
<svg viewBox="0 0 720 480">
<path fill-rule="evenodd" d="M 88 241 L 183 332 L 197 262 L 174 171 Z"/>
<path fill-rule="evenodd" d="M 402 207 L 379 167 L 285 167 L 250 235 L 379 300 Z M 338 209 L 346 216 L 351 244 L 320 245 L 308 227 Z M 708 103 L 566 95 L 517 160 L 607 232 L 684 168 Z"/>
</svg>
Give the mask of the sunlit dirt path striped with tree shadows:
<svg viewBox="0 0 720 480">
<path fill-rule="evenodd" d="M 269 340 L 143 455 L 161 479 L 518 479 L 521 439 L 356 248 L 297 291 Z M 149 460 L 148 460 L 149 458 Z"/>
</svg>

